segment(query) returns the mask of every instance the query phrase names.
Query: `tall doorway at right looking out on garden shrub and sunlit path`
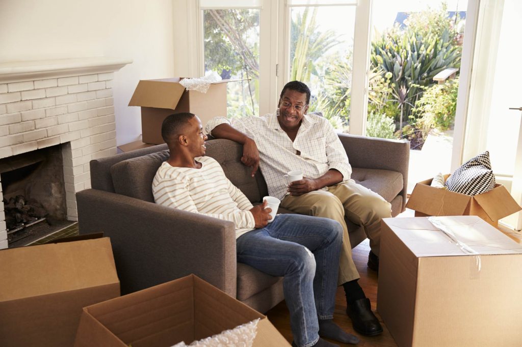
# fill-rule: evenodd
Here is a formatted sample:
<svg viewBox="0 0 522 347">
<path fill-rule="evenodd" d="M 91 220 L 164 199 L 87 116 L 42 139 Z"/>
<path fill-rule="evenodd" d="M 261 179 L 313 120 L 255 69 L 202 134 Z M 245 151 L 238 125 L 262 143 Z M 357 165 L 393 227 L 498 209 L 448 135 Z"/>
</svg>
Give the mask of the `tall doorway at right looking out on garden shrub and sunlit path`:
<svg viewBox="0 0 522 347">
<path fill-rule="evenodd" d="M 410 141 L 408 192 L 450 172 L 466 9 L 373 0 L 366 135 Z"/>
</svg>

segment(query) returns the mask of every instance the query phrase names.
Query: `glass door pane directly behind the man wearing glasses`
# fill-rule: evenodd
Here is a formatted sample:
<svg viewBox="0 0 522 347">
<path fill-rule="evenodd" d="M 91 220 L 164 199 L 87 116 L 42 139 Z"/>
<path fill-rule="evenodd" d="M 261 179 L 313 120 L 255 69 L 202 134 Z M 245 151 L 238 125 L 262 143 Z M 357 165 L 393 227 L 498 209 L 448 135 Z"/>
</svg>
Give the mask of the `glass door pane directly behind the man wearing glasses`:
<svg viewBox="0 0 522 347">
<path fill-rule="evenodd" d="M 357 2 L 289 0 L 285 18 L 285 81 L 306 83 L 309 111 L 321 111 L 334 128 L 349 132 Z"/>
</svg>

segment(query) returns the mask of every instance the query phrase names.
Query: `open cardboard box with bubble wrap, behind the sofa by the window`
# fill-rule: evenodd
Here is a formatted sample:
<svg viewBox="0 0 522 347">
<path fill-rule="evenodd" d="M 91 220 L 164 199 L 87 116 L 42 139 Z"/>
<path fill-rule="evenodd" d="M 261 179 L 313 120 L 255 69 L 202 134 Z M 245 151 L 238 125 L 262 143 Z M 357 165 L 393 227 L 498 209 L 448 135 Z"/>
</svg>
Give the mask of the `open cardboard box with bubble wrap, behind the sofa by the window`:
<svg viewBox="0 0 522 347">
<path fill-rule="evenodd" d="M 179 82 L 183 78 L 141 80 L 129 106 L 141 106 L 141 137 L 143 142 L 161 144 L 161 123 L 173 113 L 191 112 L 201 119 L 203 128 L 210 119 L 227 117 L 227 83 L 210 84 L 206 93 L 186 91 Z"/>
</svg>

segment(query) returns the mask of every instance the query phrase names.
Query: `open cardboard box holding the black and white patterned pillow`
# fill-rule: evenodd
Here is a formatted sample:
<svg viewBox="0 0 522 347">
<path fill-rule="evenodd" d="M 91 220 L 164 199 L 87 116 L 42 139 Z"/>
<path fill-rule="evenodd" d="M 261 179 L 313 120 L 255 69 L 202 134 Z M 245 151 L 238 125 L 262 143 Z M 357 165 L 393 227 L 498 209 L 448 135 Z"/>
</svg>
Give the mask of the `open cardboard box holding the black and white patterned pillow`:
<svg viewBox="0 0 522 347">
<path fill-rule="evenodd" d="M 446 180 L 449 175 L 445 175 Z M 522 209 L 502 184 L 489 192 L 474 196 L 431 187 L 432 179 L 419 182 L 413 188 L 406 207 L 423 216 L 479 216 L 494 227 L 499 219 Z"/>
</svg>

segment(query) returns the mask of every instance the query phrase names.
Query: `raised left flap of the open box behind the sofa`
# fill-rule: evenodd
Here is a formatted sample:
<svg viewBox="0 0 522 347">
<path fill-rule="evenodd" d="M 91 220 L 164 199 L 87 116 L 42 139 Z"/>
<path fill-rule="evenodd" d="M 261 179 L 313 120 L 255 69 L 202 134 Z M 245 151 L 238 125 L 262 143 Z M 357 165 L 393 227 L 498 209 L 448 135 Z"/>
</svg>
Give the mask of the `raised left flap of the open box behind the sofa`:
<svg viewBox="0 0 522 347">
<path fill-rule="evenodd" d="M 139 81 L 129 106 L 176 108 L 185 88 L 174 80 L 176 79 Z"/>
</svg>

